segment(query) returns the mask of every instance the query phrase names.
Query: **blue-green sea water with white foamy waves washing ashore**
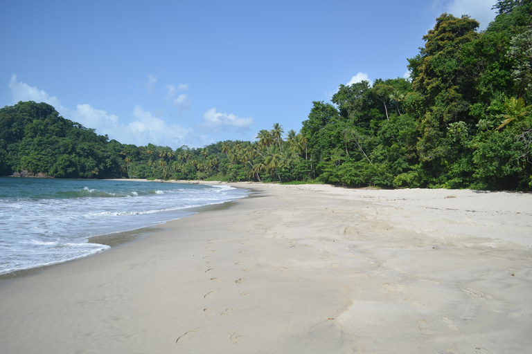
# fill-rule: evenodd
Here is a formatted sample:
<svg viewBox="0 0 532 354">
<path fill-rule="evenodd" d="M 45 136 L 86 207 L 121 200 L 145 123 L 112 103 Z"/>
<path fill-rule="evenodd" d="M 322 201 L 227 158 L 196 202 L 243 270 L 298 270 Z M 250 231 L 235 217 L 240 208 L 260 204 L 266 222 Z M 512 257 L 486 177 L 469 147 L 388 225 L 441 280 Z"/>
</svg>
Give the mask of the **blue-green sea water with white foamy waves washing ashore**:
<svg viewBox="0 0 532 354">
<path fill-rule="evenodd" d="M 91 236 L 193 214 L 190 207 L 249 194 L 226 185 L 132 180 L 0 178 L 0 274 L 85 257 L 109 248 Z"/>
</svg>

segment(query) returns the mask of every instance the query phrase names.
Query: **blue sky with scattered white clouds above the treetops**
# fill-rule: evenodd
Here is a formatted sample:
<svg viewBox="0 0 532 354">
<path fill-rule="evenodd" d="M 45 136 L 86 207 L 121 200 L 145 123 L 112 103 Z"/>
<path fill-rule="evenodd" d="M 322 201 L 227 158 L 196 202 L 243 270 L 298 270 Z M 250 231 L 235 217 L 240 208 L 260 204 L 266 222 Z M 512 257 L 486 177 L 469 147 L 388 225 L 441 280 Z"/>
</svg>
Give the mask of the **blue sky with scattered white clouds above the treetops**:
<svg viewBox="0 0 532 354">
<path fill-rule="evenodd" d="M 0 107 L 46 102 L 123 144 L 299 131 L 340 84 L 405 77 L 443 12 L 496 0 L 1 1 Z"/>
</svg>

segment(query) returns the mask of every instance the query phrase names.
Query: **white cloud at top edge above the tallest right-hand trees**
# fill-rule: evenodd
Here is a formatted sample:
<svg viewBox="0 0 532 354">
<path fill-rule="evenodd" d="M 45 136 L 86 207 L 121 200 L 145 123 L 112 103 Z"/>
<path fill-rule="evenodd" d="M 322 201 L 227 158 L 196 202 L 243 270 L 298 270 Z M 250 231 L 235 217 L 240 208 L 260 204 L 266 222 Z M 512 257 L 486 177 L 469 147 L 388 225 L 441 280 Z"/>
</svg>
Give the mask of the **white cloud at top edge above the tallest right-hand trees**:
<svg viewBox="0 0 532 354">
<path fill-rule="evenodd" d="M 496 0 L 434 0 L 432 9 L 438 12 L 436 16 L 442 12 L 455 17 L 469 15 L 472 19 L 479 21 L 480 30 L 485 30 L 497 15 L 495 10 L 491 10 L 496 2 Z"/>
</svg>

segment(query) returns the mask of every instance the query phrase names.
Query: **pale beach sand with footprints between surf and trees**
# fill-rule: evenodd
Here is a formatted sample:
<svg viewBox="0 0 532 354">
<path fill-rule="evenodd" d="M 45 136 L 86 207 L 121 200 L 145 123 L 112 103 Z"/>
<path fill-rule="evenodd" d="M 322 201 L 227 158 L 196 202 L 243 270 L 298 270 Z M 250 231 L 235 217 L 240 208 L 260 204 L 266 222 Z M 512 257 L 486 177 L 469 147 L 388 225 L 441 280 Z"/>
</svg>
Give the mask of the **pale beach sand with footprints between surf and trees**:
<svg viewBox="0 0 532 354">
<path fill-rule="evenodd" d="M 0 352 L 532 352 L 531 194 L 233 185 L 1 287 Z"/>
</svg>

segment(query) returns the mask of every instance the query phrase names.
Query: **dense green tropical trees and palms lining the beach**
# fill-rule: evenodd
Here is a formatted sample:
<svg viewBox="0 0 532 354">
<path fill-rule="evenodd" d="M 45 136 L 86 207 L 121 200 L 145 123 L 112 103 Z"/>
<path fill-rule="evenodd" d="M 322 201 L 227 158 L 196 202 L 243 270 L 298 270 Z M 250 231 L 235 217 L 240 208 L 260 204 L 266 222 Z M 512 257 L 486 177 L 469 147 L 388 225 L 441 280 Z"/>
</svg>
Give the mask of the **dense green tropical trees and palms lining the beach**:
<svg viewBox="0 0 532 354">
<path fill-rule="evenodd" d="M 411 80 L 340 85 L 300 133 L 202 149 L 136 147 L 53 107 L 0 110 L 0 175 L 310 181 L 380 187 L 532 188 L 532 0 L 503 0 L 484 32 L 443 14 L 409 59 Z"/>
</svg>

